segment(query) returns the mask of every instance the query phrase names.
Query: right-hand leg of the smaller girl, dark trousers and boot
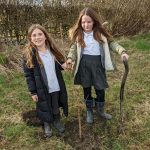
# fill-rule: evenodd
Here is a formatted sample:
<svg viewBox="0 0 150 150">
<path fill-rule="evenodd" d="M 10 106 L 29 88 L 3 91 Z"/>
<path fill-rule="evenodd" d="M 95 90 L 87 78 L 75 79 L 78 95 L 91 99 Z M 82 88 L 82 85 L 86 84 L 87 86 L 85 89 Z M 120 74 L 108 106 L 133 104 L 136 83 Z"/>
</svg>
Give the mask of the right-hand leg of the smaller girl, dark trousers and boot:
<svg viewBox="0 0 150 150">
<path fill-rule="evenodd" d="M 53 125 L 59 132 L 63 133 L 65 131 L 65 128 L 60 121 L 58 99 L 59 99 L 59 92 L 51 93 L 52 110 L 53 110 L 53 116 L 54 116 Z"/>
</svg>

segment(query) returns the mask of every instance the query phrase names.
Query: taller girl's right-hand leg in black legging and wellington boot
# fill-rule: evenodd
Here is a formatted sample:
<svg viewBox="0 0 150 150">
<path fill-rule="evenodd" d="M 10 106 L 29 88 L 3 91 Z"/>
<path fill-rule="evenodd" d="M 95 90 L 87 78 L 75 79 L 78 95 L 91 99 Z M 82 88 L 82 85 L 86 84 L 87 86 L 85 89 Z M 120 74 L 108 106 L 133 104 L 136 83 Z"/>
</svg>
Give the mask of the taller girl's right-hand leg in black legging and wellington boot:
<svg viewBox="0 0 150 150">
<path fill-rule="evenodd" d="M 95 92 L 97 95 L 96 105 L 97 105 L 98 114 L 104 119 L 108 119 L 108 120 L 112 119 L 112 116 L 110 114 L 104 112 L 105 91 L 95 89 Z"/>
</svg>

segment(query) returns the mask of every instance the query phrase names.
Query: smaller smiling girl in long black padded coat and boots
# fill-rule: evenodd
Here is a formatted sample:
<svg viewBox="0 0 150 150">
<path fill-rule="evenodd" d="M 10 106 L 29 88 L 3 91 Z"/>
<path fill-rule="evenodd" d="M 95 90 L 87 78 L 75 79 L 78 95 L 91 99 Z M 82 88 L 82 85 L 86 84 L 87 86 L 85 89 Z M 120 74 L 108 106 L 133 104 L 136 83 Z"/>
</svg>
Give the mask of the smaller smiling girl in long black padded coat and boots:
<svg viewBox="0 0 150 150">
<path fill-rule="evenodd" d="M 67 92 L 61 74 L 64 56 L 48 32 L 39 24 L 28 30 L 29 43 L 24 49 L 24 74 L 31 97 L 36 102 L 39 119 L 44 123 L 46 137 L 52 135 L 50 123 L 64 132 L 59 107 L 68 115 Z"/>
</svg>

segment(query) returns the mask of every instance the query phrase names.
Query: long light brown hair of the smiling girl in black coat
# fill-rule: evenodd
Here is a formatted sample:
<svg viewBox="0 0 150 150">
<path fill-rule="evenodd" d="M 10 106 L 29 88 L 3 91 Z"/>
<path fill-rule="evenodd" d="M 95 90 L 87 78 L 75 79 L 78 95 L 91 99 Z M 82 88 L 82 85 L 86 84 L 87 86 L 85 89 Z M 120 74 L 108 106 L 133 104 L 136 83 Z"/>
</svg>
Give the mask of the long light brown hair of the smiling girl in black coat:
<svg viewBox="0 0 150 150">
<path fill-rule="evenodd" d="M 27 35 L 28 44 L 24 48 L 24 57 L 26 59 L 26 65 L 29 68 L 34 67 L 33 66 L 33 61 L 32 61 L 32 59 L 33 59 L 33 49 L 35 49 L 35 56 L 37 58 L 38 63 L 42 64 L 41 59 L 40 59 L 39 54 L 38 54 L 38 51 L 37 51 L 37 47 L 31 42 L 31 34 L 35 29 L 39 29 L 44 33 L 44 35 L 46 37 L 45 44 L 49 48 L 49 50 L 52 52 L 52 54 L 55 56 L 56 60 L 61 61 L 61 62 L 64 61 L 65 58 L 64 58 L 63 54 L 58 49 L 58 47 L 56 46 L 53 38 L 46 31 L 46 29 L 43 26 L 39 25 L 39 24 L 33 24 L 28 29 L 28 35 Z"/>
</svg>

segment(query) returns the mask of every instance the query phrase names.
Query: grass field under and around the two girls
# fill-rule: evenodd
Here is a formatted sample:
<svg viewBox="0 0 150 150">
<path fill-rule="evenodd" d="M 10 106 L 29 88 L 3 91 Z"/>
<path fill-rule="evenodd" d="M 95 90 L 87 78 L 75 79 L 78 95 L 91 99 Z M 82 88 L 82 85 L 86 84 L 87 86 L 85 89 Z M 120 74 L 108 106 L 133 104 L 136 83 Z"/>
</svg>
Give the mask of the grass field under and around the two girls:
<svg viewBox="0 0 150 150">
<path fill-rule="evenodd" d="M 150 149 L 150 34 L 121 38 L 119 42 L 128 49 L 130 72 L 125 86 L 124 126 L 118 133 L 119 88 L 124 72 L 119 56 L 115 56 L 118 70 L 108 73 L 110 88 L 106 90 L 106 111 L 113 115 L 105 121 L 96 115 L 94 124 L 86 124 L 86 110 L 82 89 L 73 85 L 71 74 L 64 72 L 69 95 L 69 117 L 62 117 L 66 132 L 60 135 L 53 129 L 53 137 L 44 139 L 39 122 L 23 118 L 34 111 L 35 104 L 29 96 L 22 73 L 13 71 L 7 77 L 0 73 L 0 149 L 8 150 L 149 150 Z M 94 93 L 94 91 L 93 91 Z M 80 104 L 80 105 L 79 105 Z M 77 110 L 80 106 L 82 139 L 78 135 Z"/>
</svg>

